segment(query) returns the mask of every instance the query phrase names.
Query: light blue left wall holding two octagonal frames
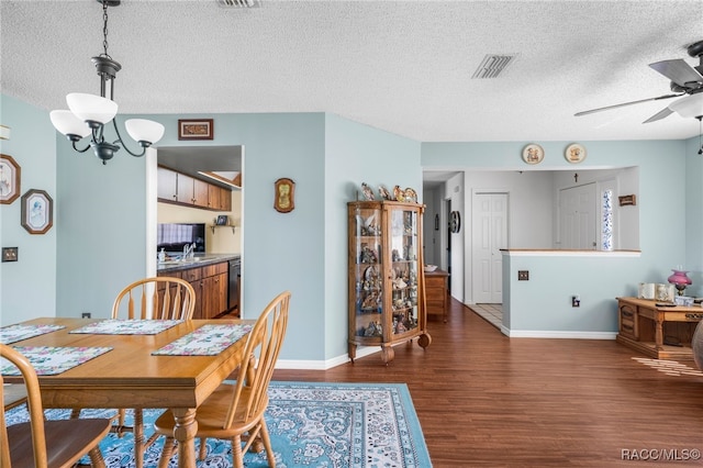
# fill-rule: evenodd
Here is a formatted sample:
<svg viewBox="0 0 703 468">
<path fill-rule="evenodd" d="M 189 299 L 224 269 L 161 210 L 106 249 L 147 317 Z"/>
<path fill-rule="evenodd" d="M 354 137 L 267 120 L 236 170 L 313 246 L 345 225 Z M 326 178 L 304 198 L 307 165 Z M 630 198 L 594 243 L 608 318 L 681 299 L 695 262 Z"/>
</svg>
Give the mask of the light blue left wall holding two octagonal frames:
<svg viewBox="0 0 703 468">
<path fill-rule="evenodd" d="M 56 144 L 48 114 L 0 94 L 0 124 L 11 129 L 0 152 L 20 165 L 20 198 L 0 204 L 0 245 L 19 247 L 19 261 L 0 264 L 0 325 L 56 313 L 56 237 L 63 220 L 56 194 Z M 46 234 L 30 234 L 21 226 L 21 197 L 30 189 L 45 190 L 54 200 L 54 226 Z"/>
</svg>

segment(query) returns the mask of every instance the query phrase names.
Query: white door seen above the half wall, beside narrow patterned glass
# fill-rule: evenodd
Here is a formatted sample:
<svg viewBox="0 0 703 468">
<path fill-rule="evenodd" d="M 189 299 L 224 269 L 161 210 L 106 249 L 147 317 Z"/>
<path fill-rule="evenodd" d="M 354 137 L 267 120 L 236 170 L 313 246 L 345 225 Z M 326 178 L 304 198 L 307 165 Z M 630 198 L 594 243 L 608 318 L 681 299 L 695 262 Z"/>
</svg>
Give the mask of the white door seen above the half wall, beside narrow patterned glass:
<svg viewBox="0 0 703 468">
<path fill-rule="evenodd" d="M 559 191 L 559 229 L 561 248 L 596 249 L 598 203 L 595 183 Z"/>
</svg>

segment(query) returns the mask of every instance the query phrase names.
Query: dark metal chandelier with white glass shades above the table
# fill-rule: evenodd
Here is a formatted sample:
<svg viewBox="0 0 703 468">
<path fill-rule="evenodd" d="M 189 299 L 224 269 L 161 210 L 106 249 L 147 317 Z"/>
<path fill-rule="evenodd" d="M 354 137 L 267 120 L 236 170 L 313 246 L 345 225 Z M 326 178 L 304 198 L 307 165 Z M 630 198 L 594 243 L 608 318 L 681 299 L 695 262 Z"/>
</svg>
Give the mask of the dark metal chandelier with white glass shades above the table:
<svg viewBox="0 0 703 468">
<path fill-rule="evenodd" d="M 145 119 L 130 119 L 124 126 L 132 138 L 142 147 L 141 153 L 132 153 L 122 141 L 114 116 L 118 103 L 112 100 L 114 78 L 122 66 L 108 54 L 108 7 L 116 7 L 120 0 L 97 0 L 102 3 L 102 34 L 103 53 L 91 60 L 100 76 L 100 96 L 71 92 L 66 96 L 69 111 L 52 111 L 52 123 L 71 142 L 74 149 L 85 153 L 92 148 L 96 156 L 107 164 L 114 154 L 123 147 L 132 156 L 144 156 L 146 148 L 164 136 L 164 125 Z M 112 121 L 118 140 L 112 143 L 105 141 L 104 127 Z M 78 142 L 90 135 L 90 143 L 85 148 L 78 147 Z"/>
</svg>

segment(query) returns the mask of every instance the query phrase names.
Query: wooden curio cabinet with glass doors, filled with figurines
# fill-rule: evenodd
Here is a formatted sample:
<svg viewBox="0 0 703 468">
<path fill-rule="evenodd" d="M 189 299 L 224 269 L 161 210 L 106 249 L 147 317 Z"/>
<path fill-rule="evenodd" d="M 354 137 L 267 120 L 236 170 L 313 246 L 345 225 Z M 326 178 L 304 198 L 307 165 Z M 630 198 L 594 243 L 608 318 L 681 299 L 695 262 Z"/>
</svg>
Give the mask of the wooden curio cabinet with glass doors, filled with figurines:
<svg viewBox="0 0 703 468">
<path fill-rule="evenodd" d="M 393 345 L 417 337 L 427 347 L 422 259 L 423 205 L 398 201 L 347 204 L 349 237 L 349 358 L 357 346 Z"/>
</svg>

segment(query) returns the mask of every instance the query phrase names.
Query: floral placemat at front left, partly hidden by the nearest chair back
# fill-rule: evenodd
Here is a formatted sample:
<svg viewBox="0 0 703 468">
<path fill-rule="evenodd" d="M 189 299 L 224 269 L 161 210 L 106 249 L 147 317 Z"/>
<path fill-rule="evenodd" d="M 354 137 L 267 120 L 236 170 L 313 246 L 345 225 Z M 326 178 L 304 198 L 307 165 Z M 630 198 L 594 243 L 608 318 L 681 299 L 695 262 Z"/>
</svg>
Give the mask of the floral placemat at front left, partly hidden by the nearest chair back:
<svg viewBox="0 0 703 468">
<path fill-rule="evenodd" d="M 55 376 L 108 353 L 112 348 L 16 346 L 14 349 L 30 360 L 37 376 Z M 3 376 L 19 376 L 20 369 L 5 358 L 0 357 L 0 374 Z"/>
</svg>

